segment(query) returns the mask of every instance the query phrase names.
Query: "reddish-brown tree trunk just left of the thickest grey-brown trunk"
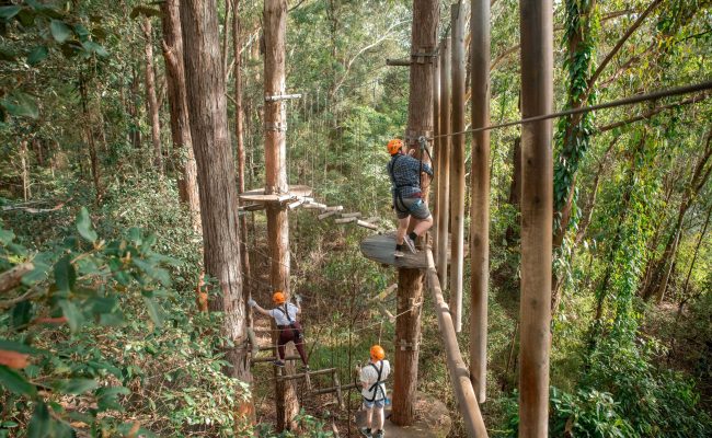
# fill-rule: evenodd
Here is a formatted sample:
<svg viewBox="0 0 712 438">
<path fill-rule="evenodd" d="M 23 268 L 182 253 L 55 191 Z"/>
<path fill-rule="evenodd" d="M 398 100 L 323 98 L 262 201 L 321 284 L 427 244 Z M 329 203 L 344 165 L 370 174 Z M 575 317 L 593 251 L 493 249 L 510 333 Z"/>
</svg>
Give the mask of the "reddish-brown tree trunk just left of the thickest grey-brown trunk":
<svg viewBox="0 0 712 438">
<path fill-rule="evenodd" d="M 181 159 L 179 192 L 181 200 L 191 211 L 193 229 L 200 231 L 200 199 L 195 166 L 195 153 L 191 140 L 191 124 L 185 90 L 185 68 L 183 66 L 183 35 L 181 35 L 180 0 L 165 0 L 161 3 L 163 13 L 163 59 L 168 81 L 168 100 L 171 105 L 171 137 L 173 148 L 185 153 Z M 185 160 L 185 162 L 183 162 Z"/>
</svg>

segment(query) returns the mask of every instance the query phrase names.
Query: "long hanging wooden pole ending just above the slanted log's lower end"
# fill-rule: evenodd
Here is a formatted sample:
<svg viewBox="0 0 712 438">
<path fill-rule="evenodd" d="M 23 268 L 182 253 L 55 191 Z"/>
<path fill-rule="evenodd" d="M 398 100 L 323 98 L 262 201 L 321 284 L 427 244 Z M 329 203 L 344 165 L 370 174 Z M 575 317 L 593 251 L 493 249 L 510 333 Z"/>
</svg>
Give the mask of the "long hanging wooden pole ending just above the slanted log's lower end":
<svg viewBox="0 0 712 438">
<path fill-rule="evenodd" d="M 490 0 L 472 0 L 472 127 L 490 125 Z M 478 401 L 486 399 L 487 287 L 490 279 L 490 131 L 472 136 L 470 207 L 470 378 Z"/>
</svg>

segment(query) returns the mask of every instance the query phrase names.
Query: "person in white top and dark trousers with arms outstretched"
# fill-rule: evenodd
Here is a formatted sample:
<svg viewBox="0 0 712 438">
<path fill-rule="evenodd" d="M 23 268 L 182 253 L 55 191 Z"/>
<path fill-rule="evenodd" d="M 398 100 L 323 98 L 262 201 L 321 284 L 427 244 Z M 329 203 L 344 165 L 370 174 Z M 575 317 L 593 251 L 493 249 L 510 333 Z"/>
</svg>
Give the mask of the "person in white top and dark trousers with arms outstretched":
<svg viewBox="0 0 712 438">
<path fill-rule="evenodd" d="M 303 331 L 301 324 L 297 321 L 297 315 L 301 313 L 299 306 L 301 303 L 301 297 L 296 295 L 296 300 L 297 304 L 287 302 L 285 293 L 282 290 L 277 290 L 272 295 L 272 301 L 276 306 L 274 309 L 265 310 L 252 298 L 248 300 L 248 304 L 263 315 L 275 319 L 275 324 L 277 324 L 277 328 L 279 330 L 279 341 L 277 342 L 277 359 L 273 364 L 277 367 L 285 366 L 285 346 L 289 342 L 294 342 L 305 365 L 305 370 L 309 370 L 307 354 L 305 353 Z"/>
</svg>

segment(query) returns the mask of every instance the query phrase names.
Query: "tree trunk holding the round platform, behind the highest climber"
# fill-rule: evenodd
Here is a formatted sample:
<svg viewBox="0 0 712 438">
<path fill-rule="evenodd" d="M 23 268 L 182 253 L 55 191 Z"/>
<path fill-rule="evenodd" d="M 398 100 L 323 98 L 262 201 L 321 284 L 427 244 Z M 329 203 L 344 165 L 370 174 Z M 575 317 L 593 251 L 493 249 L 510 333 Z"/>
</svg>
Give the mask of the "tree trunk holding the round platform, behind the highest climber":
<svg viewBox="0 0 712 438">
<path fill-rule="evenodd" d="M 432 54 L 437 47 L 438 2 L 413 1 L 411 53 Z M 411 149 L 420 151 L 417 138 L 433 131 L 433 57 L 413 57 L 411 64 L 407 130 L 405 140 Z M 424 162 L 429 162 L 424 157 Z M 427 201 L 427 191 L 423 193 Z M 391 420 L 400 426 L 415 422 L 415 390 L 417 388 L 417 357 L 421 335 L 423 273 L 420 269 L 398 272 L 398 314 L 395 322 L 395 354 L 393 407 Z"/>
</svg>

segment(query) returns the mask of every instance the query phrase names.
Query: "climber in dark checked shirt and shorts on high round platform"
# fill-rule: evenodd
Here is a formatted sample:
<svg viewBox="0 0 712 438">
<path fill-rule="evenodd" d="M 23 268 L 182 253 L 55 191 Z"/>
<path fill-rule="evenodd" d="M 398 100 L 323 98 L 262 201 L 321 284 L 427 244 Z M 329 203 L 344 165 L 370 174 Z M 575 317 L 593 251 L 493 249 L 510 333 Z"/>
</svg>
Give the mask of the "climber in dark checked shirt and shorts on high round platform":
<svg viewBox="0 0 712 438">
<path fill-rule="evenodd" d="M 423 200 L 421 192 L 421 174 L 426 173 L 433 177 L 433 169 L 413 158 L 414 152 L 415 150 L 412 149 L 405 153 L 405 145 L 398 138 L 388 142 L 388 153 L 391 154 L 388 174 L 391 178 L 393 209 L 398 216 L 395 252 L 393 253 L 395 257 L 403 256 L 404 244 L 412 253 L 415 253 L 416 239 L 433 226 L 433 216 Z M 409 226 L 413 226 L 413 231 L 405 235 Z"/>
</svg>

